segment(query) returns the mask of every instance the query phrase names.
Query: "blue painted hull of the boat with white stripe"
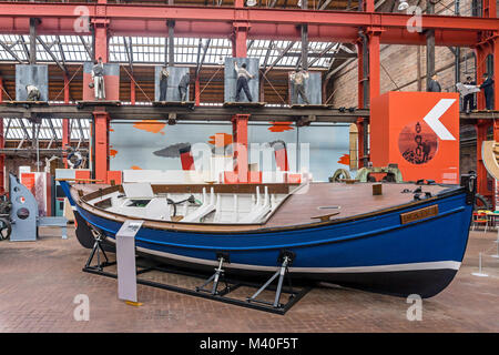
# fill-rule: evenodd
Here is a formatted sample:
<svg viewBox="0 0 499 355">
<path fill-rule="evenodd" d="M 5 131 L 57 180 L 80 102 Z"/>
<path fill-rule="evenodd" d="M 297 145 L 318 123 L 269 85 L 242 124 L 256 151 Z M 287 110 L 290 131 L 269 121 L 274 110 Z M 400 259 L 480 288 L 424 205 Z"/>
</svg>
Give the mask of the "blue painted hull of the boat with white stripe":
<svg viewBox="0 0 499 355">
<path fill-rule="evenodd" d="M 401 224 L 400 214 L 438 205 L 438 214 Z M 461 264 L 472 204 L 465 189 L 437 199 L 389 209 L 369 216 L 315 226 L 244 233 L 198 233 L 142 227 L 138 252 L 195 268 L 213 271 L 216 254 L 230 255 L 227 273 L 275 272 L 282 251 L 296 257 L 293 277 L 398 296 L 431 297 L 454 278 Z M 95 215 L 77 204 L 91 225 L 113 241 L 122 223 Z"/>
</svg>

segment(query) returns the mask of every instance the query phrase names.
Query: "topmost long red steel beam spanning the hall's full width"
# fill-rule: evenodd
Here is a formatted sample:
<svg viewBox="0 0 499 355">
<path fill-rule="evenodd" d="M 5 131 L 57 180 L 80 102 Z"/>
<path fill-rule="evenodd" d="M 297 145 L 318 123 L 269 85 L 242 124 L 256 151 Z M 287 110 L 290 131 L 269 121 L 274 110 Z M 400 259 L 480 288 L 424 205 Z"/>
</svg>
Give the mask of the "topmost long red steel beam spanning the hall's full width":
<svg viewBox="0 0 499 355">
<path fill-rule="evenodd" d="M 64 33 L 75 34 L 73 21 L 78 18 L 78 12 L 74 10 L 80 3 L 63 2 L 32 2 L 29 7 L 16 2 L 0 2 L 0 13 L 2 33 L 11 34 L 17 29 L 19 34 L 20 22 L 29 18 L 52 18 L 67 19 L 65 23 L 61 23 L 58 30 Z M 252 8 L 241 9 L 234 11 L 234 7 L 204 7 L 204 6 L 157 6 L 147 3 L 102 3 L 99 7 L 89 7 L 89 17 L 100 18 L 105 13 L 105 19 L 109 21 L 110 31 L 115 36 L 122 31 L 133 31 L 133 28 L 147 29 L 147 23 L 151 21 L 163 21 L 165 18 L 177 21 L 182 26 L 191 23 L 189 31 L 193 31 L 193 26 L 196 23 L 208 23 L 214 32 L 220 32 L 221 26 L 223 28 L 231 28 L 232 22 L 241 21 L 242 19 L 252 24 L 296 24 L 305 23 L 309 26 L 326 26 L 332 29 L 339 29 L 348 27 L 356 29 L 358 27 L 379 26 L 390 31 L 395 29 L 397 32 L 405 30 L 407 21 L 411 18 L 406 13 L 385 13 L 385 12 L 364 12 L 364 11 L 317 11 L 317 10 L 297 10 L 297 9 L 265 9 Z M 12 21 L 17 19 L 17 21 Z M 473 18 L 473 17 L 444 17 L 437 14 L 422 16 L 424 29 L 432 30 L 450 30 L 450 31 L 469 31 L 470 34 L 477 34 L 480 31 L 498 31 L 499 23 L 496 18 Z M 119 21 L 119 23 L 114 23 Z M 52 23 L 52 22 L 50 22 Z M 40 31 L 49 31 L 48 26 L 41 22 Z M 139 27 L 138 27 L 139 26 Z M 198 31 L 205 32 L 207 27 L 200 27 Z M 22 30 L 27 30 L 26 24 L 22 24 Z M 52 29 L 53 30 L 53 29 Z M 160 30 L 160 28 L 159 28 Z M 146 30 L 151 33 L 150 30 Z M 40 32 L 39 34 L 41 34 Z M 228 34 L 227 32 L 226 34 Z M 448 32 L 447 34 L 449 34 Z M 81 34 L 81 33 L 80 33 Z M 220 33 L 221 34 L 221 33 Z M 384 32 L 386 34 L 386 32 Z M 457 33 L 459 34 L 459 33 Z M 153 36 L 153 34 L 151 34 Z M 326 36 L 326 33 L 324 34 Z M 401 43 L 399 43 L 401 44 Z M 449 43 L 445 43 L 449 44 Z"/>
</svg>

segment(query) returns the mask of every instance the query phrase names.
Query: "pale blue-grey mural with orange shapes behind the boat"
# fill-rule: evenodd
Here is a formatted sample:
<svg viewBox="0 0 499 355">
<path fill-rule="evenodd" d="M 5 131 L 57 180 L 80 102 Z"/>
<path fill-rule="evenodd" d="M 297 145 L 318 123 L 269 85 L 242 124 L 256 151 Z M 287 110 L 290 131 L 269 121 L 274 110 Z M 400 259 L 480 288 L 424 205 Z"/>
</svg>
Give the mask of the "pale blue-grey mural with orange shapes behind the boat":
<svg viewBox="0 0 499 355">
<path fill-rule="evenodd" d="M 285 124 L 249 122 L 248 163 L 262 170 L 307 170 L 315 181 L 327 181 L 338 168 L 347 169 L 348 124 Z M 196 152 L 203 143 L 212 154 L 232 156 L 232 125 L 226 122 L 138 122 L 113 120 L 110 129 L 111 170 L 198 170 Z M 269 149 L 271 162 L 263 150 Z M 302 156 L 302 158 L 301 158 Z"/>
</svg>

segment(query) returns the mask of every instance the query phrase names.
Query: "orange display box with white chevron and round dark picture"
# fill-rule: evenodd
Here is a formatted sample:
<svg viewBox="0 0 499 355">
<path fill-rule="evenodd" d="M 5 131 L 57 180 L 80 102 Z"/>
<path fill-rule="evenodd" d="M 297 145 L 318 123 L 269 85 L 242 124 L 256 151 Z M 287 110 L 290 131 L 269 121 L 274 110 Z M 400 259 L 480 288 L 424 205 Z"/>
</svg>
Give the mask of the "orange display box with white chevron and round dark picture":
<svg viewBox="0 0 499 355">
<path fill-rule="evenodd" d="M 370 105 L 370 160 L 398 164 L 405 181 L 459 182 L 459 95 L 387 92 Z"/>
</svg>

